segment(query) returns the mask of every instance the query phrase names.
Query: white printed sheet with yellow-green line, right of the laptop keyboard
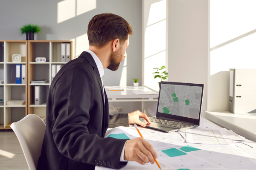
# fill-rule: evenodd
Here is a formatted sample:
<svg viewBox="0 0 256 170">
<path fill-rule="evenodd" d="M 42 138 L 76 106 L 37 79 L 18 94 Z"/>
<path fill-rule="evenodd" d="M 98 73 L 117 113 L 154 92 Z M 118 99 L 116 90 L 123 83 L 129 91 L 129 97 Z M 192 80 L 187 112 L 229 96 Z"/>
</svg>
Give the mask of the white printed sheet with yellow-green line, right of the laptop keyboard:
<svg viewBox="0 0 256 170">
<path fill-rule="evenodd" d="M 229 138 L 224 138 L 220 130 L 189 129 L 186 130 L 187 143 L 201 144 L 234 144 Z"/>
</svg>

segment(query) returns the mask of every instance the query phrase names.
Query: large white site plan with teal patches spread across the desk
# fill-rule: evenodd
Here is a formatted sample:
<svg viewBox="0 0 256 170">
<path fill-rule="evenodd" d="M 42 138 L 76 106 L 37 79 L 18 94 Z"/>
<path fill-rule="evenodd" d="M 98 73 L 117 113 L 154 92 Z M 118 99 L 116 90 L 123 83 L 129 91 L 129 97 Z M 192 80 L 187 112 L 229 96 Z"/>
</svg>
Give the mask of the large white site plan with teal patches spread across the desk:
<svg viewBox="0 0 256 170">
<path fill-rule="evenodd" d="M 253 150 L 255 148 L 245 148 L 247 151 L 234 144 L 184 143 L 185 140 L 177 132 L 161 134 L 142 131 L 141 133 L 157 151 L 157 161 L 162 170 L 255 170 L 256 168 L 256 155 L 251 154 L 255 152 Z M 105 137 L 134 139 L 140 135 L 137 130 L 115 127 L 109 130 Z M 128 164 L 121 168 L 121 170 L 147 169 L 159 170 L 156 163 L 141 165 L 135 161 L 128 161 Z M 96 166 L 95 170 L 111 169 Z"/>
</svg>

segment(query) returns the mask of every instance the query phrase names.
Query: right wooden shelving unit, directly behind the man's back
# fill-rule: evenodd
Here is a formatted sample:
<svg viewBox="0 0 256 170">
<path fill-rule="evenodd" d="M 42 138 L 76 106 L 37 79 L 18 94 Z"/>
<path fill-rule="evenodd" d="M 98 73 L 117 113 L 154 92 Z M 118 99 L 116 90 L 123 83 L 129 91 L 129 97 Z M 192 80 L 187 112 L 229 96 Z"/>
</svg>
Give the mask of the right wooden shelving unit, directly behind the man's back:
<svg viewBox="0 0 256 170">
<path fill-rule="evenodd" d="M 46 117 L 46 99 L 51 85 L 52 64 L 66 64 L 61 62 L 61 42 L 69 42 L 70 58 L 72 59 L 72 41 L 48 41 L 29 40 L 28 41 L 28 114 L 37 114 L 41 119 Z M 35 62 L 36 57 L 46 57 L 47 62 Z M 49 83 L 31 84 L 32 80 L 47 79 Z M 35 85 L 42 85 L 45 88 L 45 101 L 41 105 L 35 105 Z"/>
</svg>

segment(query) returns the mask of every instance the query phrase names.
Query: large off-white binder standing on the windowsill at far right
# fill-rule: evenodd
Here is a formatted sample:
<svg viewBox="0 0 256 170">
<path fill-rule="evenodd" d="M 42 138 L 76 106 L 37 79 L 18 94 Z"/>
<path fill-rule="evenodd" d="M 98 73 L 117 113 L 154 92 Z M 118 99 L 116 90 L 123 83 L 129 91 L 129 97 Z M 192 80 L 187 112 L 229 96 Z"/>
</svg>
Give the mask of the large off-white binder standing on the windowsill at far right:
<svg viewBox="0 0 256 170">
<path fill-rule="evenodd" d="M 230 69 L 229 111 L 256 113 L 256 69 Z"/>
</svg>

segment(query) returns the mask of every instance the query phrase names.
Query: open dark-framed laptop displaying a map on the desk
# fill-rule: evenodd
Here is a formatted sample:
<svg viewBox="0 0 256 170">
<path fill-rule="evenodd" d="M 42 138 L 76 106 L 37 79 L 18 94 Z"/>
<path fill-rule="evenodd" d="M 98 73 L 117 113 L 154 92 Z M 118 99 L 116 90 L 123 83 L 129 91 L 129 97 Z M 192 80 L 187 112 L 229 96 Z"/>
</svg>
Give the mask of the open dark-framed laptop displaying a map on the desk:
<svg viewBox="0 0 256 170">
<path fill-rule="evenodd" d="M 151 124 L 140 119 L 146 127 L 174 132 L 200 125 L 203 84 L 160 82 L 157 116 L 149 117 Z"/>
</svg>

